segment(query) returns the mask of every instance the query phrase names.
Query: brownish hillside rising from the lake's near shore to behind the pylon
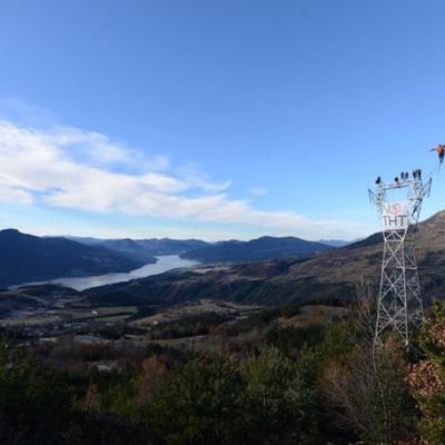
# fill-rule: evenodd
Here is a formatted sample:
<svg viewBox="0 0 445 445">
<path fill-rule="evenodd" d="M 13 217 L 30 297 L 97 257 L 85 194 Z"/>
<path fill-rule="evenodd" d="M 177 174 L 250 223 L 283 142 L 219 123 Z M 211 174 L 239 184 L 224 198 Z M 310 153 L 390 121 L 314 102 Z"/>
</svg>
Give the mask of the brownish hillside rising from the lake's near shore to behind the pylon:
<svg viewBox="0 0 445 445">
<path fill-rule="evenodd" d="M 445 211 L 418 227 L 417 258 L 426 299 L 445 295 Z M 305 300 L 345 300 L 363 279 L 377 286 L 382 235 L 308 259 L 280 259 L 234 267 L 196 267 L 160 276 L 89 289 L 90 299 L 106 304 L 177 303 L 218 298 L 239 303 L 284 305 Z M 130 303 L 131 301 L 131 303 Z"/>
</svg>

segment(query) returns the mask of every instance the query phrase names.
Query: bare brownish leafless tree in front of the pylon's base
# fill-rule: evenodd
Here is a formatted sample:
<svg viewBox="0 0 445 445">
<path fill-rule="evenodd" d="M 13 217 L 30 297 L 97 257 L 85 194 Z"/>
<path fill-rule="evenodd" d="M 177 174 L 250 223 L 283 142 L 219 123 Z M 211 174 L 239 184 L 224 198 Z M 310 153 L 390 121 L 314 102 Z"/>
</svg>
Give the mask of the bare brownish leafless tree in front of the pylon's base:
<svg viewBox="0 0 445 445">
<path fill-rule="evenodd" d="M 397 444 L 414 429 L 414 404 L 405 382 L 408 373 L 403 345 L 389 337 L 374 348 L 375 297 L 362 281 L 350 308 L 356 347 L 346 359 L 327 365 L 322 393 L 337 427 L 369 444 Z"/>
</svg>

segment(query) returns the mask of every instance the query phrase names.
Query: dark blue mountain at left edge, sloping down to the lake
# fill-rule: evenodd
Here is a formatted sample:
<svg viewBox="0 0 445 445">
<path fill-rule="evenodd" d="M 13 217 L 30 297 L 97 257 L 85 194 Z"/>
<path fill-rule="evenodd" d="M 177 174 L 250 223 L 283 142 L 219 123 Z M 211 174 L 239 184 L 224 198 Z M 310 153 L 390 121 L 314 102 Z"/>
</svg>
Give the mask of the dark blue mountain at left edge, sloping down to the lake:
<svg viewBox="0 0 445 445">
<path fill-rule="evenodd" d="M 128 271 L 144 261 L 100 246 L 85 246 L 65 238 L 39 238 L 18 230 L 0 231 L 0 286 Z"/>
</svg>

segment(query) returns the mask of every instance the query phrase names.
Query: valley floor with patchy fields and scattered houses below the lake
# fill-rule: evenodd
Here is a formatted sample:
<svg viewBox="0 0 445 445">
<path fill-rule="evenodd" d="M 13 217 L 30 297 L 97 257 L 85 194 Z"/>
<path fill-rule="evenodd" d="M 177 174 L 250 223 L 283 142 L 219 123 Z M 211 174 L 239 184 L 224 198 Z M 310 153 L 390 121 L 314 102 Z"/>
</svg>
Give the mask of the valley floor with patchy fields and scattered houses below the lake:
<svg viewBox="0 0 445 445">
<path fill-rule="evenodd" d="M 194 348 L 202 353 L 228 347 L 244 349 L 276 327 L 326 325 L 346 309 L 320 304 L 270 308 L 202 298 L 176 304 L 110 305 L 59 286 L 23 287 L 0 293 L 0 330 L 19 344 L 70 342 L 121 348 Z M 88 360 L 82 360 L 89 366 Z M 80 366 L 80 364 L 79 364 Z"/>
</svg>

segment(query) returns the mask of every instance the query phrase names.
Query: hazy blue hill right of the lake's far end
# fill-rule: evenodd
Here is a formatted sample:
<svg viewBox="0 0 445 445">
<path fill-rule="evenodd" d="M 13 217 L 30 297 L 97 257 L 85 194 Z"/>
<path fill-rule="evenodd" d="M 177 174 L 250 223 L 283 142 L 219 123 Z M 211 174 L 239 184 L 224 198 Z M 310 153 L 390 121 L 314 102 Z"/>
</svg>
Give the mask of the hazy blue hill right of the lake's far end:
<svg viewBox="0 0 445 445">
<path fill-rule="evenodd" d="M 215 245 L 189 250 L 182 258 L 196 259 L 201 263 L 246 263 L 264 261 L 285 257 L 306 257 L 330 246 L 306 241 L 294 237 L 261 237 L 250 241 L 222 241 Z"/>
</svg>

